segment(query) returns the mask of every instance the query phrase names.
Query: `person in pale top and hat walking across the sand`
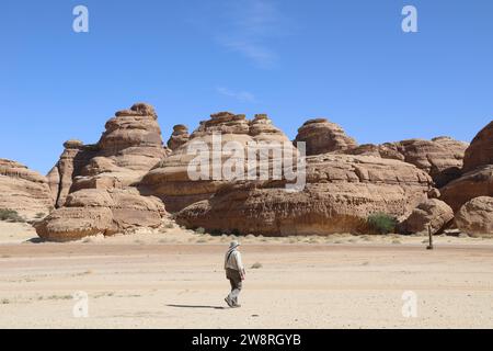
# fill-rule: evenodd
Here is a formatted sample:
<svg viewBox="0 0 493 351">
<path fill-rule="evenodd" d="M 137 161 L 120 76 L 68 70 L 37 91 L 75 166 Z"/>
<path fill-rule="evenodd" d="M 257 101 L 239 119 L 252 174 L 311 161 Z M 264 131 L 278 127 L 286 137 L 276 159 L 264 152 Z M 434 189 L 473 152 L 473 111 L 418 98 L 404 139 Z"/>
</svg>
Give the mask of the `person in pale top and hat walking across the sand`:
<svg viewBox="0 0 493 351">
<path fill-rule="evenodd" d="M 242 281 L 244 280 L 244 268 L 241 262 L 241 253 L 238 250 L 240 244 L 238 241 L 232 241 L 229 245 L 229 250 L 226 252 L 225 257 L 225 270 L 226 278 L 229 279 L 231 283 L 231 293 L 225 298 L 229 307 L 238 308 L 241 307 L 238 304 L 238 296 L 240 295 Z"/>
</svg>

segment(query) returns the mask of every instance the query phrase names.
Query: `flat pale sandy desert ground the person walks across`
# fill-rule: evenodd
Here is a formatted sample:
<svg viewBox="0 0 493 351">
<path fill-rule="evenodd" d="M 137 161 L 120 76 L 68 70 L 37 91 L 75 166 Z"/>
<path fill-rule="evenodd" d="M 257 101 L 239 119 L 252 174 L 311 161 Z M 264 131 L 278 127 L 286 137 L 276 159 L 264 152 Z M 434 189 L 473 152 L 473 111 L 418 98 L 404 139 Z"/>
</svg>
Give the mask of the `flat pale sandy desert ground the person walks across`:
<svg viewBox="0 0 493 351">
<path fill-rule="evenodd" d="M 34 237 L 0 223 L 0 328 L 493 328 L 492 239 L 439 236 L 428 251 L 420 236 L 250 236 L 243 306 L 230 309 L 232 236 L 170 226 L 74 244 Z M 87 318 L 73 316 L 77 292 Z M 402 315 L 404 292 L 416 317 Z"/>
</svg>

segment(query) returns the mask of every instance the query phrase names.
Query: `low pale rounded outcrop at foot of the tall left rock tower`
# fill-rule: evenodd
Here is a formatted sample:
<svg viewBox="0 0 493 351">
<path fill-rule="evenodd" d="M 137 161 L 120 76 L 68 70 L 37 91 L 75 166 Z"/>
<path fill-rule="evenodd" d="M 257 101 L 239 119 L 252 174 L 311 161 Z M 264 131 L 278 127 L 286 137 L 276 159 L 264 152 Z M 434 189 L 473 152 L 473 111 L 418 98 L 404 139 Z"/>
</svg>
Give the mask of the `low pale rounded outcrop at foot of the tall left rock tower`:
<svg viewBox="0 0 493 351">
<path fill-rule="evenodd" d="M 85 189 L 70 193 L 65 206 L 38 223 L 36 231 L 45 240 L 70 241 L 157 228 L 165 215 L 159 199 L 140 196 L 136 189 Z"/>
</svg>

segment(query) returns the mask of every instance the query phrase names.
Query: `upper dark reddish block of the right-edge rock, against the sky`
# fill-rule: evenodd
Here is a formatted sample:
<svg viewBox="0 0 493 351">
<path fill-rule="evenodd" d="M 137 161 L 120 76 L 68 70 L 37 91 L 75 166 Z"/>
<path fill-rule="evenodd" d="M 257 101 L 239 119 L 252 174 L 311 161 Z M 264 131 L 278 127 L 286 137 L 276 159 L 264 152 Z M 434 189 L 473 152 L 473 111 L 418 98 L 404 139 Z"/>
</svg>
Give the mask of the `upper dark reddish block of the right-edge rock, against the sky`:
<svg viewBox="0 0 493 351">
<path fill-rule="evenodd" d="M 463 172 L 493 165 L 493 121 L 471 141 L 463 159 Z"/>
</svg>

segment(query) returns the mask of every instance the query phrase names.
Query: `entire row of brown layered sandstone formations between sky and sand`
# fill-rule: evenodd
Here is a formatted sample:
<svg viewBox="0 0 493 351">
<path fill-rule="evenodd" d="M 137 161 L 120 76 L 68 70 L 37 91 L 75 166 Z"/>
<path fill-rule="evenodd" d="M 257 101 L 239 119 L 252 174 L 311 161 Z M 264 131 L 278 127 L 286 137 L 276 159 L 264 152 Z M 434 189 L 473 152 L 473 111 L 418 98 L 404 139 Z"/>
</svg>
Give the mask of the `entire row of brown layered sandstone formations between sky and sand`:
<svg viewBox="0 0 493 351">
<path fill-rule="evenodd" d="M 439 233 L 462 207 L 457 225 L 488 234 L 491 197 L 470 200 L 493 194 L 491 129 L 467 150 L 448 137 L 357 146 L 318 118 L 291 143 L 265 114 L 249 121 L 220 112 L 191 135 L 176 125 L 165 148 L 154 110 L 139 103 L 117 112 L 98 144 L 65 143 L 47 178 L 0 160 L 0 208 L 47 213 L 56 204 L 36 225 L 55 241 L 159 227 L 164 205 L 188 228 L 268 236 L 367 233 L 374 213 L 398 218 L 408 233 L 428 225 Z M 293 180 L 273 166 L 293 161 L 300 141 L 309 155 L 306 186 L 287 191 Z M 259 178 L 265 168 L 268 177 Z"/>
</svg>

